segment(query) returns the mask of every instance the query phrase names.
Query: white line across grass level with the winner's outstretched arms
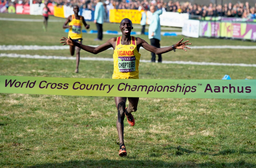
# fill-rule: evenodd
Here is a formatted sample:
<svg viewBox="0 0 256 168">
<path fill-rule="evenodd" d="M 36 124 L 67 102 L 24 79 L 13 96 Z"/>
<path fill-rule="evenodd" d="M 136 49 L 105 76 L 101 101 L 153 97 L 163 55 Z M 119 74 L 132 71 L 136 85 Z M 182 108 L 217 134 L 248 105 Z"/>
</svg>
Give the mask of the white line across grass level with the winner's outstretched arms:
<svg viewBox="0 0 256 168">
<path fill-rule="evenodd" d="M 92 46 L 97 47 L 97 46 Z M 161 46 L 167 47 L 167 46 Z M 256 46 L 190 46 L 191 49 L 256 49 Z M 56 45 L 56 46 L 38 46 L 38 45 L 0 45 L 0 51 L 7 50 L 59 50 L 59 49 L 69 49 L 68 45 Z M 113 48 L 109 48 L 112 49 Z M 144 48 L 140 48 L 144 49 Z"/>
</svg>

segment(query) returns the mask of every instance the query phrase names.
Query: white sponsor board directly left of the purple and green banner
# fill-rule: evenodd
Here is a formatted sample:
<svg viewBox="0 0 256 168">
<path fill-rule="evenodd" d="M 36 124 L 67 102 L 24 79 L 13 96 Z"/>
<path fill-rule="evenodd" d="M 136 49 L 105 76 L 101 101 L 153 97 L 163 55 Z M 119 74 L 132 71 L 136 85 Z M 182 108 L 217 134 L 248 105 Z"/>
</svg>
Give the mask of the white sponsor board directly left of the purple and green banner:
<svg viewBox="0 0 256 168">
<path fill-rule="evenodd" d="M 181 34 L 187 37 L 199 38 L 200 21 L 186 20 Z"/>
</svg>

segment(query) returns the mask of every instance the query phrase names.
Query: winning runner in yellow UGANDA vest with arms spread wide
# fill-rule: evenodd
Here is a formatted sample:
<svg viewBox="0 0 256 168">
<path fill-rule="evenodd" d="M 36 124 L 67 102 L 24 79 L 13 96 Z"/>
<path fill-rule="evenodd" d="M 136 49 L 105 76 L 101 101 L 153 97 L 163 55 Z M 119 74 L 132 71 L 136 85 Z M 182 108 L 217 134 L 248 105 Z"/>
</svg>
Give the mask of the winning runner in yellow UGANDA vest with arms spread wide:
<svg viewBox="0 0 256 168">
<path fill-rule="evenodd" d="M 182 42 L 183 39 L 178 41 L 176 44 L 170 47 L 156 48 L 149 45 L 145 40 L 139 37 L 131 36 L 132 22 L 128 18 L 124 18 L 120 22 L 119 29 L 122 32 L 122 36 L 113 37 L 104 44 L 98 47 L 91 47 L 82 45 L 75 42 L 71 38 L 62 37 L 60 39 L 63 45 L 77 46 L 85 51 L 93 54 L 98 54 L 106 49 L 112 47 L 114 49 L 114 72 L 112 79 L 138 79 L 139 78 L 139 59 L 141 54 L 139 48 L 143 47 L 150 52 L 155 54 L 162 54 L 169 51 L 175 51 L 175 49 L 190 49 L 186 45 L 190 45 L 189 40 Z M 128 99 L 129 105 L 126 108 L 126 100 Z M 127 117 L 127 121 L 131 126 L 135 125 L 135 120 L 132 116 L 132 112 L 137 111 L 139 98 L 138 97 L 115 97 L 115 105 L 118 111 L 117 117 L 117 132 L 119 137 L 119 156 L 123 157 L 127 155 L 125 144 L 124 144 L 124 118 Z"/>
</svg>

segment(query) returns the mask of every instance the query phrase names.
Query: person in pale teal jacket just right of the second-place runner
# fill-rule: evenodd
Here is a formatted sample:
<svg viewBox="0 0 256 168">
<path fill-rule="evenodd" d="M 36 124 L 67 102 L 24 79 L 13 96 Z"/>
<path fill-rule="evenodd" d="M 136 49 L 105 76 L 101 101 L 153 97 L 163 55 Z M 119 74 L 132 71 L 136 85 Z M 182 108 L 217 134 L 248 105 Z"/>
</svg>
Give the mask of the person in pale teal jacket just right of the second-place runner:
<svg viewBox="0 0 256 168">
<path fill-rule="evenodd" d="M 96 24 L 98 35 L 97 35 L 97 39 L 95 40 L 102 40 L 103 38 L 102 25 L 104 22 L 104 14 L 105 14 L 105 9 L 103 7 L 103 3 L 101 2 L 101 0 L 97 0 L 97 4 L 95 6 L 95 11 L 94 11 L 94 23 Z"/>
</svg>

